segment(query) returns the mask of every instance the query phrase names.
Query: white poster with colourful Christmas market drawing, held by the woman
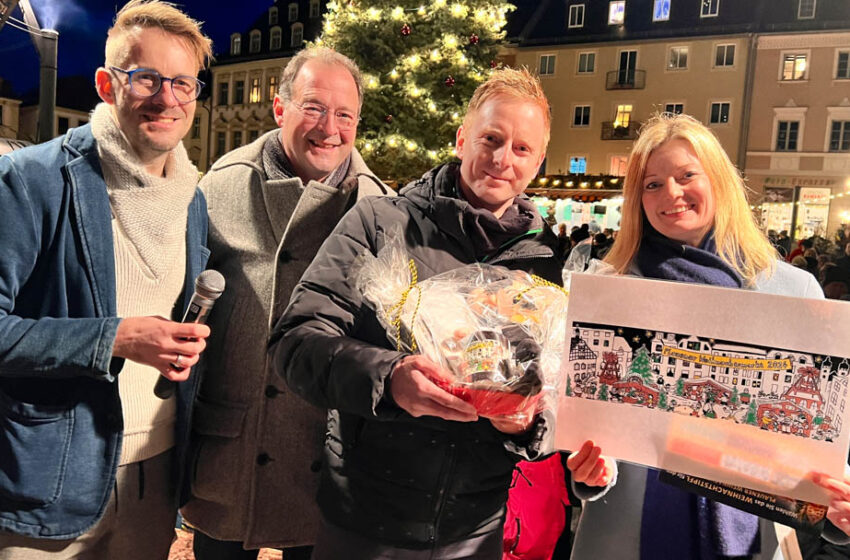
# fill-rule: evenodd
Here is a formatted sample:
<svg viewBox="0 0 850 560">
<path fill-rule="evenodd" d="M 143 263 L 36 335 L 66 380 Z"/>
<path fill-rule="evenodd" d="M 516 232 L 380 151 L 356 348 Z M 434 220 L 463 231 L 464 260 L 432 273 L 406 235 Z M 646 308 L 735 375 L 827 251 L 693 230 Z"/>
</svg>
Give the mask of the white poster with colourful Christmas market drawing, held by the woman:
<svg viewBox="0 0 850 560">
<path fill-rule="evenodd" d="M 556 445 L 827 504 L 850 446 L 850 303 L 574 274 Z"/>
</svg>

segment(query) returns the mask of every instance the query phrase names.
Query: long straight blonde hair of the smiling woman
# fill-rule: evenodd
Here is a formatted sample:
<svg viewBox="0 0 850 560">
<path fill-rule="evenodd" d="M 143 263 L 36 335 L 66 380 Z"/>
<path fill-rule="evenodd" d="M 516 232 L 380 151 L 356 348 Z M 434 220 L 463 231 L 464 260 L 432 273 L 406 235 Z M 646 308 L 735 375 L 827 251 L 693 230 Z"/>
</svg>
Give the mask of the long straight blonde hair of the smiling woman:
<svg viewBox="0 0 850 560">
<path fill-rule="evenodd" d="M 646 217 L 641 204 L 643 176 L 652 152 L 673 140 L 687 141 L 699 158 L 711 183 L 716 211 L 714 240 L 717 253 L 734 268 L 747 285 L 767 271 L 772 274 L 777 253 L 756 225 L 745 194 L 744 181 L 720 142 L 702 123 L 688 115 L 655 115 L 641 127 L 632 147 L 623 183 L 623 212 L 620 232 L 605 262 L 620 273 L 629 270 L 640 248 Z"/>
</svg>

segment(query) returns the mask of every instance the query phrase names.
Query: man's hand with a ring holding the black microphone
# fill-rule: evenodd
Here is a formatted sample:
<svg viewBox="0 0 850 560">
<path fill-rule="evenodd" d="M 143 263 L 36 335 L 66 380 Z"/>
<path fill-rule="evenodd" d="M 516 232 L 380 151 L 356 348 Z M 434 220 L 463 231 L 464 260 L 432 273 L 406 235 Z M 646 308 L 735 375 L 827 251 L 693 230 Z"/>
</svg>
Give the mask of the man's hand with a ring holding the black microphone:
<svg viewBox="0 0 850 560">
<path fill-rule="evenodd" d="M 210 328 L 162 317 L 127 317 L 118 324 L 112 355 L 156 368 L 171 381 L 186 381 L 206 348 Z"/>
</svg>

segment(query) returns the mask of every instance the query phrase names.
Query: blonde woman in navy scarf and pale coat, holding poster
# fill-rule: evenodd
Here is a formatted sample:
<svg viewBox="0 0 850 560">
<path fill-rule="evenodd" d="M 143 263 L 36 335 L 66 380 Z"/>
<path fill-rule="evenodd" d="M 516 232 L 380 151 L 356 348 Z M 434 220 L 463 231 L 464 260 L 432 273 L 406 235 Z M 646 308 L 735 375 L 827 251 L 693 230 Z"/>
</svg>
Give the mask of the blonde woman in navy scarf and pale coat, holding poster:
<svg viewBox="0 0 850 560">
<path fill-rule="evenodd" d="M 621 229 L 605 261 L 623 274 L 823 298 L 811 274 L 778 260 L 744 189 L 705 126 L 685 115 L 653 117 L 632 149 Z M 823 485 L 842 502 L 830 519 L 846 531 L 839 517 L 847 514 L 838 512 L 850 506 L 850 487 Z M 573 558 L 771 558 L 776 538 L 759 525 L 753 515 L 658 482 L 657 471 L 621 464 L 605 499 L 586 504 Z"/>
</svg>

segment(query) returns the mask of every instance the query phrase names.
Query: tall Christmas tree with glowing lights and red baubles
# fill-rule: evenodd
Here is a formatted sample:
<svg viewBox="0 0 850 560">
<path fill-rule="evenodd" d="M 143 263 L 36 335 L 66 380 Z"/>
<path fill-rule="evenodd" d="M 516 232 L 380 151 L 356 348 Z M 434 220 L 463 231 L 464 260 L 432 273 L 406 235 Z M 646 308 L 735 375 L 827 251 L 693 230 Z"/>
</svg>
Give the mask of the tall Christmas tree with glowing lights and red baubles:
<svg viewBox="0 0 850 560">
<path fill-rule="evenodd" d="M 382 178 L 418 177 L 454 156 L 475 88 L 497 65 L 499 0 L 332 0 L 317 43 L 364 78 L 357 149 Z"/>
</svg>

